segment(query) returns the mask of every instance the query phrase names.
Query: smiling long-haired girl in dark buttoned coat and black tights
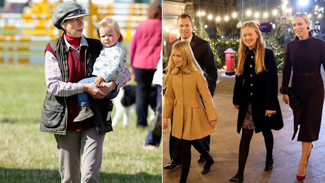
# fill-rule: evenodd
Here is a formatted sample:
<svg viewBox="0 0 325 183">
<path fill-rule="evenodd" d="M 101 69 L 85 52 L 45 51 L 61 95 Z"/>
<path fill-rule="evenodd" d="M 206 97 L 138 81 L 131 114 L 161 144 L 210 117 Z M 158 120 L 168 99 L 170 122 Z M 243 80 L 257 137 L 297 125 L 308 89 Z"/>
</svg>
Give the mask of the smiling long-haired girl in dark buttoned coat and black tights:
<svg viewBox="0 0 325 183">
<path fill-rule="evenodd" d="M 249 152 L 250 140 L 255 133 L 262 132 L 267 155 L 264 169 L 273 168 L 273 134 L 271 129 L 283 127 L 278 101 L 278 75 L 272 50 L 265 48 L 261 31 L 253 22 L 241 28 L 238 52 L 238 67 L 233 104 L 239 109 L 237 132 L 242 129 L 239 146 L 237 174 L 229 181 L 242 182 Z"/>
</svg>

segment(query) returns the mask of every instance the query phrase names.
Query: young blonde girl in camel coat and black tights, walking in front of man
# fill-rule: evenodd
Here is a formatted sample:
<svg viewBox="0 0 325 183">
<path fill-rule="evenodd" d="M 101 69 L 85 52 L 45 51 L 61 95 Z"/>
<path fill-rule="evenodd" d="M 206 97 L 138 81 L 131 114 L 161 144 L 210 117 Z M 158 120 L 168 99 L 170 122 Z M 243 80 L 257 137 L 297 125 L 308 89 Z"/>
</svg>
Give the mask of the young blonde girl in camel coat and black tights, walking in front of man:
<svg viewBox="0 0 325 183">
<path fill-rule="evenodd" d="M 172 136 L 181 139 L 182 147 L 180 182 L 186 182 L 191 161 L 191 145 L 207 160 L 202 174 L 208 173 L 214 163 L 199 139 L 215 131 L 217 114 L 204 73 L 187 41 L 174 44 L 166 71 L 163 128 L 167 129 L 167 118 L 173 115 Z"/>
</svg>

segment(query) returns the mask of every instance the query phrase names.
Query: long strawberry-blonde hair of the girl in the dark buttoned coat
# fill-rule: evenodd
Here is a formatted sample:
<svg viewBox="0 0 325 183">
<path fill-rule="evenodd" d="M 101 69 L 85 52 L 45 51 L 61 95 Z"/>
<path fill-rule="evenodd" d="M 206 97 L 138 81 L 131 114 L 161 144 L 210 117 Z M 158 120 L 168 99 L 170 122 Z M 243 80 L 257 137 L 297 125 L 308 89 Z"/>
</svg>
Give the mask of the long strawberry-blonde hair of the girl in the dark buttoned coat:
<svg viewBox="0 0 325 183">
<path fill-rule="evenodd" d="M 263 41 L 262 33 L 259 31 L 258 26 L 253 22 L 245 23 L 242 28 L 240 29 L 240 45 L 238 50 L 238 64 L 237 64 L 237 76 L 244 74 L 244 63 L 245 59 L 247 57 L 246 54 L 246 45 L 243 40 L 243 29 L 245 27 L 250 27 L 254 29 L 255 33 L 257 34 L 258 38 L 256 40 L 256 52 L 255 52 L 255 73 L 261 73 L 263 71 L 266 71 L 265 64 L 264 64 L 264 58 L 265 58 L 265 43 Z"/>
</svg>

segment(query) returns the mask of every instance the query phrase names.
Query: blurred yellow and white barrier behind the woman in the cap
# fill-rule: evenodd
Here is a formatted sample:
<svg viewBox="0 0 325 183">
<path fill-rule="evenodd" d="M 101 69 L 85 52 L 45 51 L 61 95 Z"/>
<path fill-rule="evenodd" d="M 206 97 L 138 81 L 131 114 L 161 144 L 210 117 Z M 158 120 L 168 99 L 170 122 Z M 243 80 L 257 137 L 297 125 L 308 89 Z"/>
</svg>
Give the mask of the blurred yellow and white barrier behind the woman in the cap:
<svg viewBox="0 0 325 183">
<path fill-rule="evenodd" d="M 58 3 L 43 0 L 22 14 L 0 13 L 0 64 L 44 63 L 46 44 L 62 34 L 51 22 Z M 130 40 L 138 24 L 147 19 L 148 6 L 141 3 L 94 5 L 89 1 L 89 4 L 82 5 L 91 14 L 85 18 L 84 35 L 98 39 L 91 21 L 109 17 L 117 20 L 124 39 Z"/>
</svg>

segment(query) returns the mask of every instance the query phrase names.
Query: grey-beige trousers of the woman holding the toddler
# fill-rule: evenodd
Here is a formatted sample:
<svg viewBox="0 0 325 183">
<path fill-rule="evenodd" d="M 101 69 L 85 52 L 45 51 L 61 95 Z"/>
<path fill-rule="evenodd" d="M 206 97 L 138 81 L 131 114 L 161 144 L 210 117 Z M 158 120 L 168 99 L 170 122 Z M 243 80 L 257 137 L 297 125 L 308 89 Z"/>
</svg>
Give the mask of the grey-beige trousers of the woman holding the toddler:
<svg viewBox="0 0 325 183">
<path fill-rule="evenodd" d="M 95 127 L 66 135 L 54 135 L 59 155 L 61 182 L 98 182 L 102 165 L 104 134 Z M 80 181 L 81 154 L 81 181 Z"/>
</svg>

